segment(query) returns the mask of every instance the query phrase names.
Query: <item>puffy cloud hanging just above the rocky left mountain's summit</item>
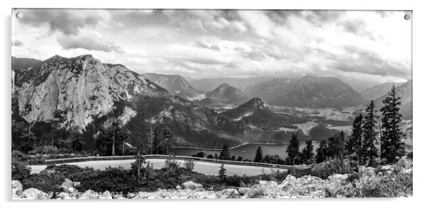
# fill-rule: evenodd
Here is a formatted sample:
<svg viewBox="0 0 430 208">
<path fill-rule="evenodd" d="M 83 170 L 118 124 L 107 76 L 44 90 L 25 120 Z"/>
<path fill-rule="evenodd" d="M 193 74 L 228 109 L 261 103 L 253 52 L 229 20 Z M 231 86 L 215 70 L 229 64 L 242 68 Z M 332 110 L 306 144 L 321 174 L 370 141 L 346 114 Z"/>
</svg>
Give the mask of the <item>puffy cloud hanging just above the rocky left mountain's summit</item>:
<svg viewBox="0 0 430 208">
<path fill-rule="evenodd" d="M 115 43 L 105 41 L 99 33 L 79 33 L 79 35 L 61 35 L 57 38 L 64 49 L 83 48 L 89 51 L 105 51 L 122 53 L 122 48 Z"/>
</svg>

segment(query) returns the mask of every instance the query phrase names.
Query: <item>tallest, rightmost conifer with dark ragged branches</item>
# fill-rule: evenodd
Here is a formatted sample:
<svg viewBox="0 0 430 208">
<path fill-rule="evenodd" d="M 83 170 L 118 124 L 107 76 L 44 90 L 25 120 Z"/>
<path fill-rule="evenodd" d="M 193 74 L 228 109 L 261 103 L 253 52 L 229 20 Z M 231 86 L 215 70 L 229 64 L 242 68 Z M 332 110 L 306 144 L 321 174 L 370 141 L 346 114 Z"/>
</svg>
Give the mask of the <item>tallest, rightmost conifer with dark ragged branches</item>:
<svg viewBox="0 0 430 208">
<path fill-rule="evenodd" d="M 401 132 L 399 123 L 401 122 L 400 97 L 396 95 L 396 88 L 393 87 L 388 96 L 382 100 L 384 107 L 379 111 L 382 113 L 382 133 L 381 133 L 381 157 L 389 162 L 395 162 L 396 157 L 404 155 L 404 144 L 401 142 Z"/>
</svg>

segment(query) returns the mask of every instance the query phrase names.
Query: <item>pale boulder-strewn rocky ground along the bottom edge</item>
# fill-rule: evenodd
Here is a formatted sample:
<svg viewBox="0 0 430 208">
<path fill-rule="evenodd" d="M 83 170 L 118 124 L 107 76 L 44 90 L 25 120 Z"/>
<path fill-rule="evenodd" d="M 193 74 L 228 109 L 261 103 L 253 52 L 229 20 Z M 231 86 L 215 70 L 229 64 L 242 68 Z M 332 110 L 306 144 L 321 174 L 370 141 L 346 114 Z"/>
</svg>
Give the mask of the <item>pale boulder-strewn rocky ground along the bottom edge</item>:
<svg viewBox="0 0 430 208">
<path fill-rule="evenodd" d="M 378 172 L 378 173 L 376 173 Z M 306 175 L 296 178 L 288 175 L 282 182 L 259 181 L 251 187 L 231 187 L 214 191 L 204 189 L 201 184 L 187 181 L 176 185 L 176 189 L 158 189 L 156 192 L 136 192 L 126 196 L 109 191 L 98 193 L 91 189 L 79 193 L 75 187 L 80 182 L 64 180 L 59 193 L 45 193 L 39 189 L 23 190 L 21 182 L 12 181 L 12 199 L 225 199 L 225 198 L 321 198 L 321 197 L 369 197 L 374 192 L 381 194 L 382 184 L 399 183 L 399 177 L 411 177 L 412 166 L 384 165 L 376 170 L 373 167 L 360 167 L 359 172 L 335 174 L 327 180 Z M 394 190 L 393 187 L 399 187 Z M 411 187 L 405 188 L 398 184 L 386 187 L 389 194 L 383 197 L 410 197 Z M 392 193 L 391 193 L 392 192 Z M 395 193 L 394 193 L 395 192 Z M 373 196 L 373 195 L 370 195 Z M 379 196 L 379 195 L 378 195 Z"/>
</svg>

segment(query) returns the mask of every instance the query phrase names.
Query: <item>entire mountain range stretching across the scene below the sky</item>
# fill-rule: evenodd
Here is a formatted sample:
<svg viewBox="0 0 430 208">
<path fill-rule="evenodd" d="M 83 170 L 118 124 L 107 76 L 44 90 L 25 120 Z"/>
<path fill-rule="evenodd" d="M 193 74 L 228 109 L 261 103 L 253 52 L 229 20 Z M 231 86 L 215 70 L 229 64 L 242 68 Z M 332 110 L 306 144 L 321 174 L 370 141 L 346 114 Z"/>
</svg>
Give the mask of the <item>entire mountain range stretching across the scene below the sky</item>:
<svg viewBox="0 0 430 208">
<path fill-rule="evenodd" d="M 170 128 L 176 145 L 221 147 L 226 142 L 249 142 L 246 137 L 255 142 L 264 137 L 262 131 L 296 128 L 292 123 L 306 122 L 295 115 L 274 113 L 264 100 L 314 107 L 357 105 L 364 100 L 336 78 L 276 78 L 249 85 L 245 93 L 221 83 L 203 93 L 181 76 L 141 75 L 121 64 L 101 63 L 91 55 L 13 60 L 12 128 L 27 126 L 14 132 L 28 128 L 38 129 L 38 136 L 56 130 L 80 132 L 89 147 L 101 128 L 109 128 L 114 121 L 131 132 L 135 142 L 151 125 Z M 402 110 L 407 110 L 411 81 L 400 85 L 398 93 Z M 191 101 L 191 96 L 206 98 Z M 217 113 L 206 108 L 205 101 L 239 106 Z"/>
</svg>

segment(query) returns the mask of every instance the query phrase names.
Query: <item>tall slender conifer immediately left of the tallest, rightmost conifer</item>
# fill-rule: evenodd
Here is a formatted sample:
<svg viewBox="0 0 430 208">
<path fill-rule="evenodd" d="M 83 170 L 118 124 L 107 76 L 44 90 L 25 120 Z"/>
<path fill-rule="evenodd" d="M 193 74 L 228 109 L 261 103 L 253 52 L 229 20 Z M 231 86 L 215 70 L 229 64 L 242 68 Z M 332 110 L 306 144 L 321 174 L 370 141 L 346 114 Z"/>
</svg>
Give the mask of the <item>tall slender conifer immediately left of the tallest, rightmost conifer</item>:
<svg viewBox="0 0 430 208">
<path fill-rule="evenodd" d="M 369 162 L 369 166 L 374 165 L 374 160 L 378 157 L 376 143 L 376 116 L 374 100 L 371 100 L 365 110 L 366 115 L 363 121 L 363 156 Z"/>
</svg>

